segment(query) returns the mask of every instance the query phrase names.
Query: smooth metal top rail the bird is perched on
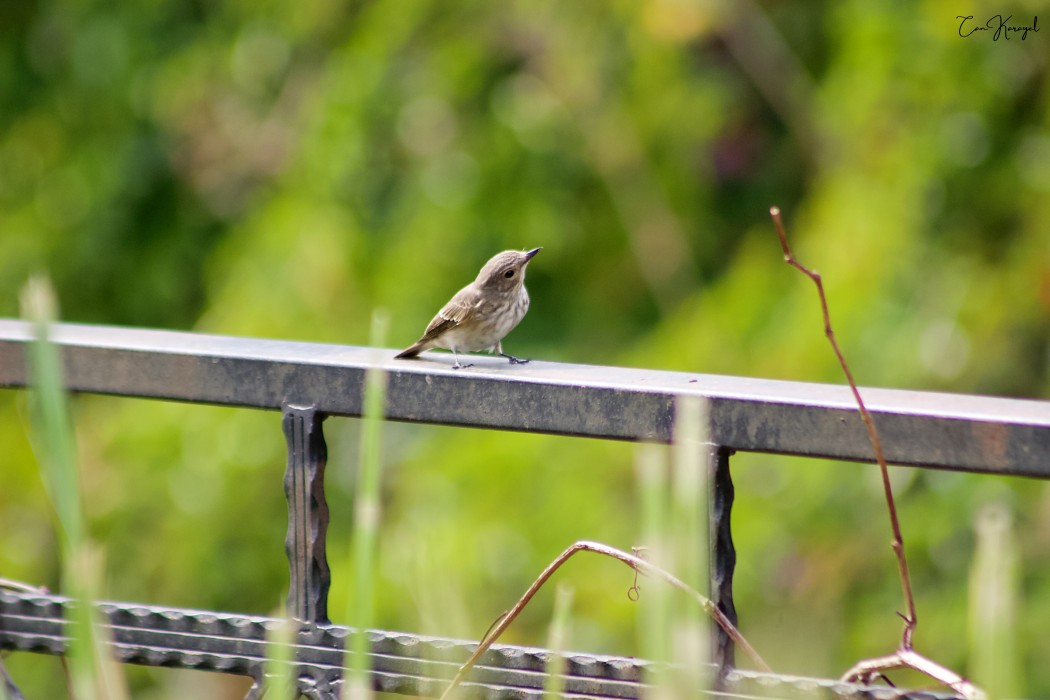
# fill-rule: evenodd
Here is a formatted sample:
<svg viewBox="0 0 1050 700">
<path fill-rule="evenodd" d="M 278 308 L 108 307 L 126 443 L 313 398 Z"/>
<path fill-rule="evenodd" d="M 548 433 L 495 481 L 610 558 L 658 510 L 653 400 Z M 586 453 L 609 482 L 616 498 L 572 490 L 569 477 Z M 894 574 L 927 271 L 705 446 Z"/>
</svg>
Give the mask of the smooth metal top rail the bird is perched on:
<svg viewBox="0 0 1050 700">
<path fill-rule="evenodd" d="M 25 386 L 23 321 L 0 319 L 0 387 Z M 729 449 L 872 461 L 844 385 L 57 324 L 70 389 L 281 410 L 302 387 L 326 415 L 360 416 L 364 373 L 388 374 L 393 420 L 670 442 L 674 400 L 711 402 Z M 862 388 L 892 464 L 1050 479 L 1050 402 Z"/>
</svg>

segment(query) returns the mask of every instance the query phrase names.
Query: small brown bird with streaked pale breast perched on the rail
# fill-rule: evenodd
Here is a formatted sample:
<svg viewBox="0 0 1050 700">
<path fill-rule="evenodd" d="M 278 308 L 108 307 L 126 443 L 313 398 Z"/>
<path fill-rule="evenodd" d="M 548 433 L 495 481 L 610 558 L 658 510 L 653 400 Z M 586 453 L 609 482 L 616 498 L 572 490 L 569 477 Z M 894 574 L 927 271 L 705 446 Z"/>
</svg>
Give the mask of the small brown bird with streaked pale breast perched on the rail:
<svg viewBox="0 0 1050 700">
<path fill-rule="evenodd" d="M 457 292 L 438 312 L 423 337 L 396 357 L 412 358 L 432 347 L 444 347 L 453 352 L 456 361 L 453 369 L 471 366 L 460 364 L 458 353 L 495 352 L 511 364 L 528 362 L 504 353 L 503 338 L 528 311 L 525 266 L 542 250 L 503 251 L 494 256 L 478 278 Z"/>
</svg>

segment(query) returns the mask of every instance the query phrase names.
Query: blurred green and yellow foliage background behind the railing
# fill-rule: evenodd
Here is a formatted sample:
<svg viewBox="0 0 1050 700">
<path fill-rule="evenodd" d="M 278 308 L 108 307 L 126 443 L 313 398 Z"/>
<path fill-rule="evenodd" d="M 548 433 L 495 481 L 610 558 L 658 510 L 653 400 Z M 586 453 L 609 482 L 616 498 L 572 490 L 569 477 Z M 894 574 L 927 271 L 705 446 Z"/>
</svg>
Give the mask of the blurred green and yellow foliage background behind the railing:
<svg viewBox="0 0 1050 700">
<path fill-rule="evenodd" d="M 0 315 L 30 273 L 67 320 L 407 345 L 495 252 L 543 246 L 513 354 L 1050 398 L 1050 35 L 963 38 L 1045 2 L 0 3 Z M 1048 13 L 1047 15 L 1050 15 Z M 1050 16 L 1041 17 L 1043 22 Z M 284 598 L 279 416 L 81 397 L 114 599 Z M 57 588 L 24 396 L 0 393 L 0 575 Z M 339 621 L 357 424 L 330 420 Z M 628 444 L 388 425 L 382 627 L 479 638 L 580 538 L 638 544 Z M 874 467 L 734 460 L 742 630 L 838 676 L 898 641 Z M 974 523 L 1020 573 L 1017 693 L 1050 695 L 1050 486 L 895 470 L 920 651 L 967 673 Z M 573 646 L 636 653 L 621 565 L 581 560 Z M 552 595 L 509 641 L 542 644 Z M 15 655 L 28 697 L 58 662 Z M 243 697 L 128 669 L 135 698 Z"/>
</svg>

